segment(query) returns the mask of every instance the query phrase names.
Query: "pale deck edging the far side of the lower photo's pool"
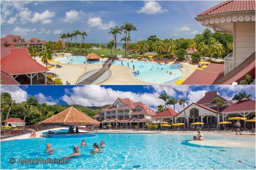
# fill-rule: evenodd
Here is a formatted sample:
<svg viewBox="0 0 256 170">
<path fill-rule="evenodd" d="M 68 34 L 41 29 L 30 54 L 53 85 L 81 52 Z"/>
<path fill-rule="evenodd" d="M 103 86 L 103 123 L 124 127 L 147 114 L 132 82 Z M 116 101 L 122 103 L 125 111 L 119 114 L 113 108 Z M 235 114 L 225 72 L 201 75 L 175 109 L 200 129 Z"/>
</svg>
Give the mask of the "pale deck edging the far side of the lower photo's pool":
<svg viewBox="0 0 256 170">
<path fill-rule="evenodd" d="M 64 129 L 64 128 L 54 128 L 51 129 L 52 131 L 54 130 L 60 130 L 60 129 Z M 43 138 L 41 137 L 41 134 L 43 132 L 46 132 L 49 130 L 44 130 L 44 131 L 38 131 L 36 138 Z M 83 130 L 79 130 L 81 132 L 85 132 Z M 97 133 L 96 131 L 94 131 L 95 133 Z M 184 135 L 184 134 L 190 134 L 191 135 L 191 139 L 193 138 L 194 135 L 197 135 L 196 131 L 142 131 L 142 130 L 98 130 L 98 133 L 162 133 L 162 134 L 180 134 L 180 135 Z M 241 147 L 241 148 L 255 148 L 255 133 L 251 133 L 251 132 L 242 132 L 242 135 L 236 135 L 235 132 L 203 132 L 204 134 L 204 140 L 203 141 L 199 141 L 199 140 L 190 140 L 188 141 L 189 143 L 192 143 L 194 145 L 201 145 L 201 146 L 212 146 L 212 147 Z M 207 136 L 209 135 L 222 135 L 222 136 L 230 136 L 230 137 L 237 137 L 237 138 L 242 138 L 244 139 L 243 141 L 231 141 L 231 140 L 207 140 Z M 30 137 L 30 133 L 29 134 L 22 134 L 22 135 L 18 135 L 15 137 L 10 137 L 10 138 L 5 138 L 5 139 L 1 139 L 1 141 L 11 141 L 11 140 L 21 140 L 21 139 L 29 139 Z M 249 142 L 246 141 L 246 139 L 254 139 L 254 142 Z M 30 138 L 33 139 L 33 138 Z"/>
</svg>

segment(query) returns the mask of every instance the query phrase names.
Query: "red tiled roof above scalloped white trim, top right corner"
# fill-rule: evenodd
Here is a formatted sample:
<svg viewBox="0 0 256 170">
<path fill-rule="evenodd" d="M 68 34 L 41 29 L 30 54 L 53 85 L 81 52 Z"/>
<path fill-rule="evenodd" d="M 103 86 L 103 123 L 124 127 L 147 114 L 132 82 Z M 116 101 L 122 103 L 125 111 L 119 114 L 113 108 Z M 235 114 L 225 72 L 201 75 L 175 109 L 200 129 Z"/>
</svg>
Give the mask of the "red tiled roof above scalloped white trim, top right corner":
<svg viewBox="0 0 256 170">
<path fill-rule="evenodd" d="M 197 16 L 248 10 L 255 10 L 255 1 L 225 1 L 209 8 Z"/>
</svg>

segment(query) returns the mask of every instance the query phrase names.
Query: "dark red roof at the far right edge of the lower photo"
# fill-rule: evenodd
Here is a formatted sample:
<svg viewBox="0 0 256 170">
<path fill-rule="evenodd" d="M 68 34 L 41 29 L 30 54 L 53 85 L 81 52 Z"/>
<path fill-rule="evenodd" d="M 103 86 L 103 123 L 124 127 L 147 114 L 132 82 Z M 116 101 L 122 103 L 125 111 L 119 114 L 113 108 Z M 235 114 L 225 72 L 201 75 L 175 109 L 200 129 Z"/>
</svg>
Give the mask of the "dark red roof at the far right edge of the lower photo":
<svg viewBox="0 0 256 170">
<path fill-rule="evenodd" d="M 225 108 L 222 113 L 241 111 L 255 111 L 255 101 L 249 98 L 243 98 L 234 105 Z"/>
</svg>

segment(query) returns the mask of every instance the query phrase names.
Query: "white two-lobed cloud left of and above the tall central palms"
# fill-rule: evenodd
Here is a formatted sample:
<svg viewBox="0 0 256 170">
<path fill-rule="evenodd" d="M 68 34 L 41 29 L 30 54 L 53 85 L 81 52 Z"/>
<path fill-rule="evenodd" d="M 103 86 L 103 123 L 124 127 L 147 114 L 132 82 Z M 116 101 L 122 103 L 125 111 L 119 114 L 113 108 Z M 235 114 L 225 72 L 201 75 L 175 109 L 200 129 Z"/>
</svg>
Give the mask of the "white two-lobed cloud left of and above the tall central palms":
<svg viewBox="0 0 256 170">
<path fill-rule="evenodd" d="M 100 17 L 90 17 L 87 23 L 90 27 L 96 27 L 101 30 L 108 30 L 116 25 L 114 21 L 110 21 L 108 24 L 103 24 Z"/>
</svg>

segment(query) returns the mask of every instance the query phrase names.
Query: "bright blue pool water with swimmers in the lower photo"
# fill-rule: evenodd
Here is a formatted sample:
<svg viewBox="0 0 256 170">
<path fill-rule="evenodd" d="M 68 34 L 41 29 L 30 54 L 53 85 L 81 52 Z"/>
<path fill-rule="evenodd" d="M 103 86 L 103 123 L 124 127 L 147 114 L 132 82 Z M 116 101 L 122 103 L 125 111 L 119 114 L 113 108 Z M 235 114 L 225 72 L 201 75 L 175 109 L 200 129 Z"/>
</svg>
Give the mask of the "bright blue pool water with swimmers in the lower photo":
<svg viewBox="0 0 256 170">
<path fill-rule="evenodd" d="M 86 138 L 82 156 L 68 164 L 17 164 L 18 158 L 61 158 L 72 153 L 82 139 L 37 138 L 1 142 L 1 169 L 255 169 L 255 148 L 195 147 L 184 145 L 187 134 L 97 133 Z M 250 141 L 255 138 L 221 137 L 205 134 L 205 140 Z M 105 140 L 101 154 L 90 155 L 94 142 Z M 52 143 L 52 155 L 44 153 Z M 10 158 L 16 162 L 10 164 Z M 241 160 L 241 163 L 238 162 Z"/>
</svg>

